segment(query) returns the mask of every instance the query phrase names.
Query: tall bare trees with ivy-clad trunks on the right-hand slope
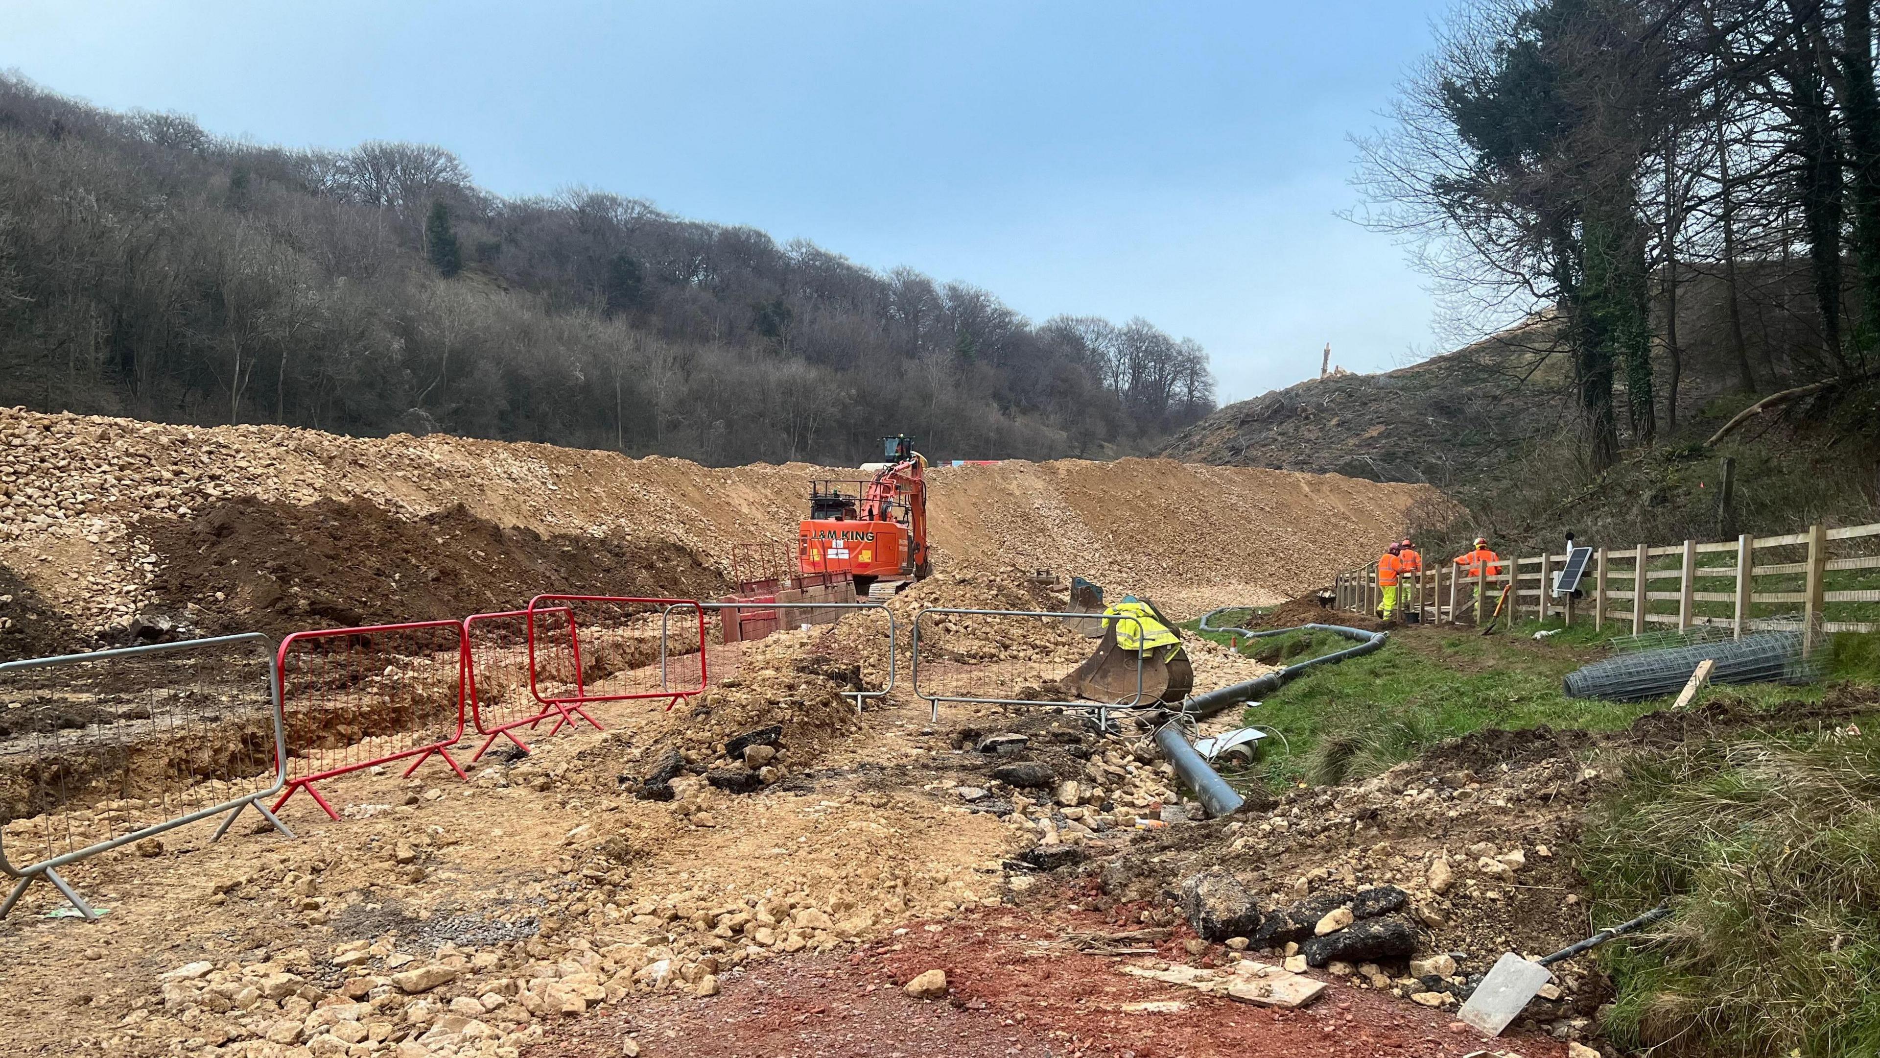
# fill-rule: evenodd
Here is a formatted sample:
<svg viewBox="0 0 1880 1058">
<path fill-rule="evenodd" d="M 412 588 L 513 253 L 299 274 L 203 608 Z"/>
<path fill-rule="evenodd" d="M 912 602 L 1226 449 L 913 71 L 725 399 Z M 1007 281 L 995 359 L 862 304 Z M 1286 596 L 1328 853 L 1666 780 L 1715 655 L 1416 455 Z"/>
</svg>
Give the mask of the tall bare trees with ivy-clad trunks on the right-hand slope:
<svg viewBox="0 0 1880 1058">
<path fill-rule="evenodd" d="M 1453 320 L 1547 320 L 1594 471 L 1679 425 L 1700 343 L 1767 405 L 1880 367 L 1872 0 L 1472 0 L 1359 152 Z"/>
</svg>

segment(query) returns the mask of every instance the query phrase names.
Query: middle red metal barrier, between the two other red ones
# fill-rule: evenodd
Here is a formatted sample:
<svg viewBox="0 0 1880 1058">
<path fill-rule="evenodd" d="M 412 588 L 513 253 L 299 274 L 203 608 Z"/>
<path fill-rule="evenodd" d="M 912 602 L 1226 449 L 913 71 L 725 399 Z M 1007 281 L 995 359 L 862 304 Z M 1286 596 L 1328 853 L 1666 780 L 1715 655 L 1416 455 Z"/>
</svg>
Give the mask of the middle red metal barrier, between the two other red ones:
<svg viewBox="0 0 1880 1058">
<path fill-rule="evenodd" d="M 464 698 L 476 732 L 485 736 L 470 757 L 472 762 L 489 753 L 498 738 L 508 738 L 517 749 L 530 753 L 528 744 L 515 736 L 519 727 L 534 730 L 541 721 L 555 717 L 555 727 L 549 729 L 549 734 L 555 734 L 562 725 L 573 723 L 568 706 L 536 700 L 534 693 L 528 691 L 532 633 L 543 642 L 568 640 L 572 653 L 573 612 L 566 606 L 555 606 L 464 617 Z M 587 713 L 581 715 L 594 723 Z"/>
</svg>

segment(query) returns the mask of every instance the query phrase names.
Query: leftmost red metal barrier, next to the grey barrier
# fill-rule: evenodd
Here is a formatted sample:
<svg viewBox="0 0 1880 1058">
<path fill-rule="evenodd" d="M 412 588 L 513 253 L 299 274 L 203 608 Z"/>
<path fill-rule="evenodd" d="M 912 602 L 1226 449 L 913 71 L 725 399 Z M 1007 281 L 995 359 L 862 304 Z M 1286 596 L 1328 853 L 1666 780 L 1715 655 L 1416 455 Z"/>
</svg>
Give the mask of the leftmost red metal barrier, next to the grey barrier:
<svg viewBox="0 0 1880 1058">
<path fill-rule="evenodd" d="M 462 621 L 291 633 L 276 663 L 290 755 L 276 811 L 305 789 L 338 819 L 314 783 L 406 757 L 406 776 L 436 753 L 468 779 L 449 755 L 464 732 Z"/>
</svg>

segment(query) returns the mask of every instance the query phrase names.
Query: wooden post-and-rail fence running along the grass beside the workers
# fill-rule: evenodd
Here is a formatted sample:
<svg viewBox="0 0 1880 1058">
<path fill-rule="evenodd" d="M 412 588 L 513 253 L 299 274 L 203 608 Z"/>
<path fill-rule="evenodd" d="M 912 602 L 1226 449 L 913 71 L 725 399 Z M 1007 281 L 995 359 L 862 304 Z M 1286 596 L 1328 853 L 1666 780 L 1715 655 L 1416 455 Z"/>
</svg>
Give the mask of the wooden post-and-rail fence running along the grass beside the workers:
<svg viewBox="0 0 1880 1058">
<path fill-rule="evenodd" d="M 1423 569 L 1399 574 L 1397 619 L 1418 614 L 1431 623 L 1483 625 L 1508 591 L 1513 619 L 1560 617 L 1690 629 L 1722 625 L 1735 638 L 1758 629 L 1799 629 L 1812 651 L 1831 633 L 1880 631 L 1880 525 L 1735 540 L 1636 548 L 1596 548 L 1579 582 L 1579 599 L 1555 599 L 1553 574 L 1566 555 L 1502 557 L 1500 569 L 1468 576 L 1449 559 L 1423 557 Z M 1378 565 L 1348 570 L 1333 584 L 1335 606 L 1376 614 L 1384 601 Z"/>
</svg>

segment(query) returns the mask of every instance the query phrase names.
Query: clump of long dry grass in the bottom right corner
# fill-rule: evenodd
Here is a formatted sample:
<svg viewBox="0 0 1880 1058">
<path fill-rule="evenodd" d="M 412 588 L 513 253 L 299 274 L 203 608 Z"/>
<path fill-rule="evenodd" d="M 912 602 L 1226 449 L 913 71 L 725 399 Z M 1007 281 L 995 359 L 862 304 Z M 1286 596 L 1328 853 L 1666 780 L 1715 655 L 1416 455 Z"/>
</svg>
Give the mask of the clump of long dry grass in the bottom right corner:
<svg viewBox="0 0 1880 1058">
<path fill-rule="evenodd" d="M 1872 727 L 1872 725 L 1867 725 Z M 1684 747 L 1628 764 L 1589 828 L 1613 915 L 1677 915 L 1602 958 L 1607 1032 L 1660 1054 L 1880 1052 L 1880 732 Z"/>
</svg>

